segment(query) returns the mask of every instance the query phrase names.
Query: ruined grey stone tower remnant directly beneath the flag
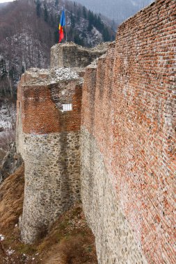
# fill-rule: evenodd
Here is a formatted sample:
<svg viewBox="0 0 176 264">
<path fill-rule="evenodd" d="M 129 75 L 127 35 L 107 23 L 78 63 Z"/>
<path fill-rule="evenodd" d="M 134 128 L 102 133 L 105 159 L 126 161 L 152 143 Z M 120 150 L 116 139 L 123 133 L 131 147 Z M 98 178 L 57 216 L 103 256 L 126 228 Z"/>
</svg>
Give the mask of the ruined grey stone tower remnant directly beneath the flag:
<svg viewBox="0 0 176 264">
<path fill-rule="evenodd" d="M 56 44 L 51 47 L 51 67 L 86 67 L 102 56 L 108 49 L 108 42 L 93 49 L 78 46 L 73 42 Z"/>
</svg>

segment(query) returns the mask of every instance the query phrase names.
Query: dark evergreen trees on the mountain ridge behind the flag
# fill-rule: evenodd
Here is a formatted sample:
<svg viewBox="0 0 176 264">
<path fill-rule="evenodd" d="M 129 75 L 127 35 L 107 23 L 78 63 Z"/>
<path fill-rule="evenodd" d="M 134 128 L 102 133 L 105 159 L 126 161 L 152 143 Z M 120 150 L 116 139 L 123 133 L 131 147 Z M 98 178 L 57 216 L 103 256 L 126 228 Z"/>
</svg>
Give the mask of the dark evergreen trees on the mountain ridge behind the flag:
<svg viewBox="0 0 176 264">
<path fill-rule="evenodd" d="M 38 17 L 43 17 L 45 22 L 49 23 L 51 27 L 55 28 L 54 31 L 54 41 L 58 43 L 58 24 L 60 22 L 60 15 L 54 15 L 49 12 L 47 2 L 43 2 L 40 0 L 35 1 L 36 4 L 36 14 Z M 55 0 L 56 10 L 58 6 L 61 6 L 61 1 Z M 102 33 L 103 41 L 112 41 L 115 38 L 114 32 L 104 24 L 102 21 L 101 15 L 94 14 L 93 11 L 88 10 L 85 6 L 81 6 L 78 3 L 65 1 L 65 9 L 66 9 L 66 17 L 70 21 L 70 24 L 67 24 L 67 40 L 74 41 L 77 44 L 86 45 L 85 38 L 86 34 L 80 34 L 75 28 L 79 25 L 81 18 L 86 19 L 88 21 L 87 31 L 90 33 L 93 30 L 93 27 L 97 28 L 97 30 Z"/>
</svg>

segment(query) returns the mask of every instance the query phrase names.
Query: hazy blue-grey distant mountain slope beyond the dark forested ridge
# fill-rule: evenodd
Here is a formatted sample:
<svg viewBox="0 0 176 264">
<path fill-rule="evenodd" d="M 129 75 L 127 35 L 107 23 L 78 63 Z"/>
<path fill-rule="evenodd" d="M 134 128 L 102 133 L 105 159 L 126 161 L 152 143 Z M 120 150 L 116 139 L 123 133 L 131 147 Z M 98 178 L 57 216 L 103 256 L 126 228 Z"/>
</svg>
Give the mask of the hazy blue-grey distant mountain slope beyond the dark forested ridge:
<svg viewBox="0 0 176 264">
<path fill-rule="evenodd" d="M 120 24 L 154 0 L 76 0 L 95 13 L 102 13 Z"/>
</svg>

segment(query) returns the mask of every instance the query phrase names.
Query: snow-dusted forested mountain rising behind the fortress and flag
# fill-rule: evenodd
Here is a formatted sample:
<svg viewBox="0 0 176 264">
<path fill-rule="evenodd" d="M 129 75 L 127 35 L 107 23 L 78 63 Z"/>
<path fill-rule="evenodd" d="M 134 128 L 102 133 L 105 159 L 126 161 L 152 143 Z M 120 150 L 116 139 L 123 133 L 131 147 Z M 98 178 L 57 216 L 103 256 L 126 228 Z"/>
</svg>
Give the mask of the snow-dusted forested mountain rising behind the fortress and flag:
<svg viewBox="0 0 176 264">
<path fill-rule="evenodd" d="M 0 5 L 0 95 L 11 96 L 29 67 L 49 67 L 50 48 L 58 42 L 65 5 L 67 40 L 93 47 L 113 40 L 111 26 L 81 4 L 60 0 L 18 0 Z"/>
</svg>

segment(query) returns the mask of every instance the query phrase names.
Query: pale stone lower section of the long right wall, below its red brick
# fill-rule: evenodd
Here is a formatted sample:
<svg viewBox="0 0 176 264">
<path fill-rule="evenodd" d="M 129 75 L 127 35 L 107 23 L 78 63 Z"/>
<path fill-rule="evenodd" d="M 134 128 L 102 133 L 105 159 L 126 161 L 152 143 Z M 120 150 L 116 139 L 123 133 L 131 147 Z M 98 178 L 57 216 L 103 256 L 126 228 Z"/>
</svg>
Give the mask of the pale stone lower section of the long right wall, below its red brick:
<svg viewBox="0 0 176 264">
<path fill-rule="evenodd" d="M 99 263 L 147 263 L 125 217 L 115 188 L 106 171 L 95 138 L 81 130 L 81 197 L 84 212 L 96 238 Z"/>
</svg>

